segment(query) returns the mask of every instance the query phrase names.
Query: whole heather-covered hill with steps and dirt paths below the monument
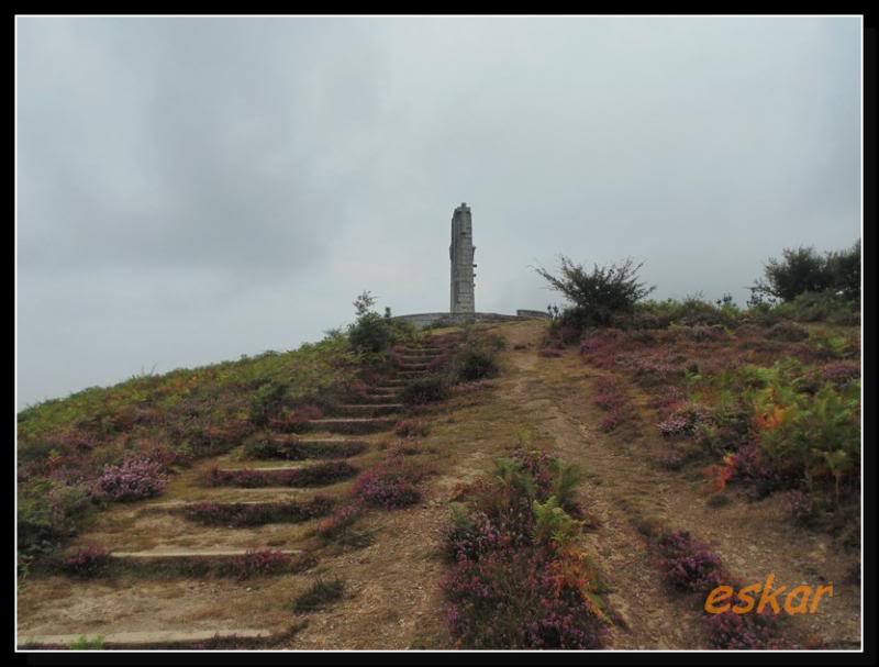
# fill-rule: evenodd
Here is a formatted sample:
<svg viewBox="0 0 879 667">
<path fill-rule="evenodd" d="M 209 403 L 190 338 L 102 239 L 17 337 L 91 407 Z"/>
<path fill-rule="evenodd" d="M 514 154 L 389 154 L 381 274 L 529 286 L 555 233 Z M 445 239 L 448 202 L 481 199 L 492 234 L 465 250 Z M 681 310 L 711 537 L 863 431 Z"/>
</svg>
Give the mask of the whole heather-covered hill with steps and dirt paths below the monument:
<svg viewBox="0 0 879 667">
<path fill-rule="evenodd" d="M 857 645 L 859 329 L 665 314 L 334 335 L 21 413 L 20 642 Z M 833 597 L 701 611 L 770 572 Z"/>
</svg>

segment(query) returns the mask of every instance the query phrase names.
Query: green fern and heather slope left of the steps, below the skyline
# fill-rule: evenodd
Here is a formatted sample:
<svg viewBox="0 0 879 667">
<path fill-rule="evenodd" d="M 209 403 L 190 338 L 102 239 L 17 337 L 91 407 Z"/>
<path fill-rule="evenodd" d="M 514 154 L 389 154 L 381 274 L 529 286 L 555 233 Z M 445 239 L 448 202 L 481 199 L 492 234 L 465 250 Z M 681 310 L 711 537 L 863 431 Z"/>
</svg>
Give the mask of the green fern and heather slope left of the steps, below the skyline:
<svg viewBox="0 0 879 667">
<path fill-rule="evenodd" d="M 244 357 L 165 375 L 92 387 L 18 414 L 19 565 L 51 560 L 81 530 L 105 466 L 131 456 L 181 458 L 215 454 L 248 434 L 249 416 L 280 403 L 321 396 L 355 376 L 345 336 L 299 349 Z M 49 479 L 51 477 L 51 479 Z"/>
</svg>

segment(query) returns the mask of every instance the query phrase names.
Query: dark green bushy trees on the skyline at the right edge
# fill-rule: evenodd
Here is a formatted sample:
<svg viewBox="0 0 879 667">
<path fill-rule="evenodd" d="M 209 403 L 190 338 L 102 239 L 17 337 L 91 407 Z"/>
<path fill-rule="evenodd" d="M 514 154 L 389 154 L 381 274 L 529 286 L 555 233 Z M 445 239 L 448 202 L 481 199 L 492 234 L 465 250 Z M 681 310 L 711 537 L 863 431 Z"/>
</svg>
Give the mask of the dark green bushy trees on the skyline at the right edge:
<svg viewBox="0 0 879 667">
<path fill-rule="evenodd" d="M 785 248 L 782 258 L 770 257 L 764 278 L 752 291 L 782 301 L 804 292 L 839 292 L 846 300 L 860 298 L 860 241 L 846 251 L 819 254 L 813 247 Z"/>
</svg>

